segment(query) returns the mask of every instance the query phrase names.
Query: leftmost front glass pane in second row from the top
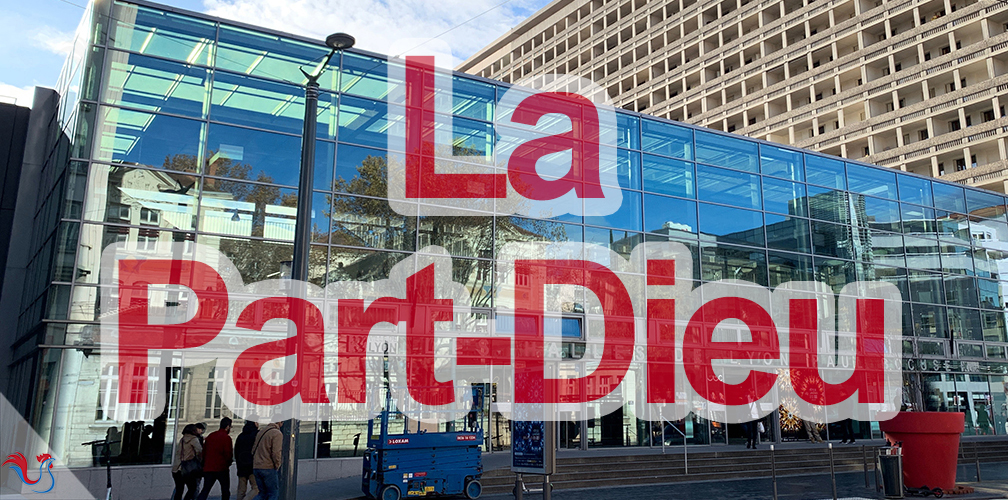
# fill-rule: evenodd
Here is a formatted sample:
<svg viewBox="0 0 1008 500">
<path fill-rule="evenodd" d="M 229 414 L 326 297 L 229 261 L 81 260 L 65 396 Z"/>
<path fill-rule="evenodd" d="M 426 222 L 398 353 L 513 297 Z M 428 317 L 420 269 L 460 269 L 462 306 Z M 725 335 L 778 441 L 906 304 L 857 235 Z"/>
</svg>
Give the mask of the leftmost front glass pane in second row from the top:
<svg viewBox="0 0 1008 500">
<path fill-rule="evenodd" d="M 109 51 L 102 100 L 153 113 L 202 118 L 207 114 L 210 72 L 162 58 Z"/>
</svg>

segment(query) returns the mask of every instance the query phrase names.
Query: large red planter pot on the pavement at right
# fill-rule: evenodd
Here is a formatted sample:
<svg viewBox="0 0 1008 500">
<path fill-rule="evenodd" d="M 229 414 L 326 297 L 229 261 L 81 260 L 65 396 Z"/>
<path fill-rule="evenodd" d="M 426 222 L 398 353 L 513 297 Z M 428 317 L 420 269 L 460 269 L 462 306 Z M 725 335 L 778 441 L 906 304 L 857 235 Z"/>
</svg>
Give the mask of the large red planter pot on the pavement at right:
<svg viewBox="0 0 1008 500">
<path fill-rule="evenodd" d="M 903 482 L 907 487 L 949 491 L 956 486 L 965 417 L 955 411 L 901 411 L 879 422 L 887 440 L 903 443 Z"/>
</svg>

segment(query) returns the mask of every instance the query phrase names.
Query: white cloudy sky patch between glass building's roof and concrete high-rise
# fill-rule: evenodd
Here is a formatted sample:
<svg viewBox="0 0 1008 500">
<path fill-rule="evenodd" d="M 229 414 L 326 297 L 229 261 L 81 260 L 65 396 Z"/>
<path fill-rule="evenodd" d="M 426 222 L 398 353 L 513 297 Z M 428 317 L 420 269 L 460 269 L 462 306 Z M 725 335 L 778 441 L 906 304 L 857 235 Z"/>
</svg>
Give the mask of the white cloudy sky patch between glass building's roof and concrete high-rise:
<svg viewBox="0 0 1008 500">
<path fill-rule="evenodd" d="M 212 15 L 314 38 L 345 31 L 357 38 L 355 46 L 380 53 L 402 38 L 440 35 L 455 66 L 547 3 L 511 0 L 495 8 L 503 1 L 204 0 L 204 6 Z"/>
</svg>

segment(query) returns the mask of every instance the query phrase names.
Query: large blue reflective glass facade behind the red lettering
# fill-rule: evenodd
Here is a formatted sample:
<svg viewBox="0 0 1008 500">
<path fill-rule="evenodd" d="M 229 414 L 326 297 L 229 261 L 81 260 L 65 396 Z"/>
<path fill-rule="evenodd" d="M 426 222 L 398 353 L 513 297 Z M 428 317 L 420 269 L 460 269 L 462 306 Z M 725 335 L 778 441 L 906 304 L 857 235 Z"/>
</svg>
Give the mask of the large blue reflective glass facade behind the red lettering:
<svg viewBox="0 0 1008 500">
<path fill-rule="evenodd" d="M 283 276 L 298 197 L 311 197 L 312 282 L 382 279 L 410 252 L 439 245 L 455 257 L 455 278 L 485 327 L 495 321 L 494 259 L 511 241 L 591 243 L 623 255 L 643 241 L 677 241 L 694 253 L 698 285 L 814 279 L 839 292 L 855 280 L 889 281 L 905 299 L 906 403 L 963 411 L 968 433 L 1005 432 L 1001 195 L 620 111 L 623 205 L 610 216 L 403 216 L 384 200 L 388 163 L 402 161 L 386 150 L 390 124 L 401 117 L 384 100 L 385 58 L 351 50 L 327 69 L 316 183 L 298 193 L 297 68 L 318 65 L 327 52 L 321 43 L 146 4 L 99 1 L 91 9 L 60 79 L 66 140 L 53 146 L 50 195 L 36 217 L 44 224 L 31 242 L 37 255 L 18 321 L 30 340 L 15 349 L 38 381 L 30 418 L 72 467 L 97 464 L 76 445 L 122 432 L 117 420 L 142 421 L 150 436 L 133 463 L 167 463 L 180 425 L 230 414 L 214 394 L 223 375 L 212 366 L 149 373 L 150 383 L 170 388 L 160 414 L 103 412 L 99 388 L 114 386 L 116 374 L 93 354 L 101 348 L 100 299 L 112 292 L 99 286 L 102 249 L 121 242 L 143 254 L 199 242 L 228 255 L 246 282 Z M 495 103 L 508 88 L 456 75 L 456 144 L 494 154 Z M 569 320 L 565 356 L 577 357 L 580 331 L 591 325 L 577 304 Z M 767 440 L 802 432 L 786 406 L 766 423 Z M 494 413 L 488 425 L 490 444 L 506 447 L 506 421 Z M 558 435 L 570 447 L 654 446 L 681 441 L 671 425 L 694 445 L 742 435 L 702 418 L 650 425 L 631 407 L 563 424 Z M 365 428 L 302 423 L 302 456 L 360 453 L 356 436 Z M 869 422 L 859 428 L 877 432 Z"/>
</svg>

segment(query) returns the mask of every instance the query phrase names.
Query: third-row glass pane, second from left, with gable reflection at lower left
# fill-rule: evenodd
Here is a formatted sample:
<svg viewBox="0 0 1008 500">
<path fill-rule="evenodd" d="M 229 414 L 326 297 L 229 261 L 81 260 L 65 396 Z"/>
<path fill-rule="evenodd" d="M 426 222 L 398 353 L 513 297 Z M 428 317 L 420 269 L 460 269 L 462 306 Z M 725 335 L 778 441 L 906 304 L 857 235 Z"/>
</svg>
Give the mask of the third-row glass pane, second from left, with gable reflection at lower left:
<svg viewBox="0 0 1008 500">
<path fill-rule="evenodd" d="M 211 124 L 208 175 L 297 185 L 301 138 Z"/>
</svg>

